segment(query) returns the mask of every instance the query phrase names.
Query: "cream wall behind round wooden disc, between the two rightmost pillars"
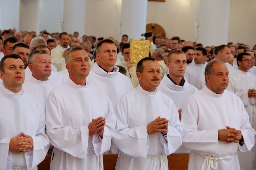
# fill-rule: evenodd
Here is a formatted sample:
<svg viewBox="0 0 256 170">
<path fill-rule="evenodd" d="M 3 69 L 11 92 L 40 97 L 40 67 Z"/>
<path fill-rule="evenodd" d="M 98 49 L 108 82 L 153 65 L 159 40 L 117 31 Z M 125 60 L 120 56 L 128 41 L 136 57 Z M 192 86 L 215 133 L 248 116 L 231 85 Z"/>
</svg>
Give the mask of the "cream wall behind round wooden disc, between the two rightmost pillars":
<svg viewBox="0 0 256 170">
<path fill-rule="evenodd" d="M 166 37 L 179 36 L 181 39 L 196 41 L 191 2 L 194 2 L 198 22 L 199 0 L 148 1 L 147 24 L 156 23 L 165 29 Z"/>
</svg>

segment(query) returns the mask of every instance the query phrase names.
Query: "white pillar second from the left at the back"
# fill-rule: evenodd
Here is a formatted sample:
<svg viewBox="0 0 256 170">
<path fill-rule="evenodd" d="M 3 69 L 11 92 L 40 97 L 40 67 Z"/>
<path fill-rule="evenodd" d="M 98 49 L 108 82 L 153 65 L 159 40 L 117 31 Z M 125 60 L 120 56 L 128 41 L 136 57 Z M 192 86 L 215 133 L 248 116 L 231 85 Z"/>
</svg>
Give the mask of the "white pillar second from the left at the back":
<svg viewBox="0 0 256 170">
<path fill-rule="evenodd" d="M 85 2 L 86 0 L 64 0 L 63 31 L 68 34 L 78 31 L 79 36 L 85 33 Z"/>
</svg>

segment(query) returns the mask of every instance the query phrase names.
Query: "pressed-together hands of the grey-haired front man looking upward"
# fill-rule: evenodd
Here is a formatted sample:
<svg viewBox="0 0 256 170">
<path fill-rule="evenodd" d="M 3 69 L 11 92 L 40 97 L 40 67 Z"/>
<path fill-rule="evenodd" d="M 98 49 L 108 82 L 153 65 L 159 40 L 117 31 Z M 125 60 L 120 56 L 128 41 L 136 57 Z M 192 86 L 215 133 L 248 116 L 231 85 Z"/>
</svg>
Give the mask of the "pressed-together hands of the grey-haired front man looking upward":
<svg viewBox="0 0 256 170">
<path fill-rule="evenodd" d="M 103 117 L 98 117 L 97 119 L 92 119 L 91 123 L 89 123 L 89 125 L 88 125 L 89 136 L 98 134 L 102 139 L 105 123 L 106 123 L 106 121 L 105 121 L 105 118 L 103 118 Z"/>
</svg>

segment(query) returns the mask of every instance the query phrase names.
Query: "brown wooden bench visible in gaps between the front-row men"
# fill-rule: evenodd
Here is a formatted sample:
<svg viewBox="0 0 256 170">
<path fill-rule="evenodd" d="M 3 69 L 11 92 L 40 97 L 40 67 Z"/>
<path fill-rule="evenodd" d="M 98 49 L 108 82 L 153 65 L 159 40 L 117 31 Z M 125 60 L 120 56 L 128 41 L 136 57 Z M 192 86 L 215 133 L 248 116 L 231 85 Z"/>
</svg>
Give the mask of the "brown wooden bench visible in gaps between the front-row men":
<svg viewBox="0 0 256 170">
<path fill-rule="evenodd" d="M 49 170 L 51 163 L 51 156 L 46 155 L 45 159 L 38 165 L 38 170 Z M 103 154 L 104 170 L 114 170 L 116 166 L 118 154 Z M 169 170 L 187 170 L 188 158 L 187 153 L 174 153 L 168 157 Z"/>
</svg>

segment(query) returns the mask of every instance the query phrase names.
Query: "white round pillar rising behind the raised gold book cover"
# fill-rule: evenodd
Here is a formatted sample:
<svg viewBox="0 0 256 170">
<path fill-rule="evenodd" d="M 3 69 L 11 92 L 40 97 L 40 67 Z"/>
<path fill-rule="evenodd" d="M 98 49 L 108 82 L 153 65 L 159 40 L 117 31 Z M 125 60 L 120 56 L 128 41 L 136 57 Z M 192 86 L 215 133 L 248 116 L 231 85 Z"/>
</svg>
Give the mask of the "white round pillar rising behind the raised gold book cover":
<svg viewBox="0 0 256 170">
<path fill-rule="evenodd" d="M 139 40 L 146 32 L 147 0 L 122 1 L 121 34 Z"/>
</svg>

